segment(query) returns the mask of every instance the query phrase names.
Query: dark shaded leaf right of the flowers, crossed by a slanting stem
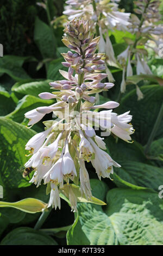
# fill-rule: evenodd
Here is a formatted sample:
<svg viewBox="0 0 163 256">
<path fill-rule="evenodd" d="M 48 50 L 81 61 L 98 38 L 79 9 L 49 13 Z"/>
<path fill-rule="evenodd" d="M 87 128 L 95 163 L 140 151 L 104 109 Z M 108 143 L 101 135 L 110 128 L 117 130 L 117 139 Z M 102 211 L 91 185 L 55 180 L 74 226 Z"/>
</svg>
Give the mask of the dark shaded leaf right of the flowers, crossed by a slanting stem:
<svg viewBox="0 0 163 256">
<path fill-rule="evenodd" d="M 145 145 L 152 132 L 153 125 L 162 104 L 163 87 L 158 85 L 142 86 L 141 91 L 144 95 L 142 100 L 137 101 L 136 90 L 134 89 L 123 97 L 121 105 L 117 108 L 117 111 L 118 113 L 124 113 L 131 110 L 130 114 L 133 115 L 132 124 L 135 129 L 132 138 L 142 145 Z M 155 139 L 159 139 L 162 136 L 163 119 Z"/>
</svg>

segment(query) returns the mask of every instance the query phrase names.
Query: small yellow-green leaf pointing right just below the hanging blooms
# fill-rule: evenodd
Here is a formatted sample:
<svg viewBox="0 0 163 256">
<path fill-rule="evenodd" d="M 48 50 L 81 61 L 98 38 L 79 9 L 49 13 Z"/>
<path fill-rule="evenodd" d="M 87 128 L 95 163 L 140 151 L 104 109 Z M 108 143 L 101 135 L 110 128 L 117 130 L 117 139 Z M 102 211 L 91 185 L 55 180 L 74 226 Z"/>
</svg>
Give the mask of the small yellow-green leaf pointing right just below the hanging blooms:
<svg viewBox="0 0 163 256">
<path fill-rule="evenodd" d="M 71 186 L 73 193 L 76 195 L 78 202 L 83 202 L 83 203 L 92 203 L 92 204 L 98 204 L 98 205 L 105 205 L 105 203 L 102 200 L 99 200 L 96 197 L 91 197 L 91 200 L 87 200 L 85 195 L 83 195 L 80 192 L 80 187 L 76 186 L 74 184 L 65 184 L 62 188 L 61 188 L 61 193 L 64 194 L 64 196 L 66 198 L 69 198 L 69 186 Z M 64 197 L 62 197 L 63 199 L 65 199 Z"/>
</svg>

